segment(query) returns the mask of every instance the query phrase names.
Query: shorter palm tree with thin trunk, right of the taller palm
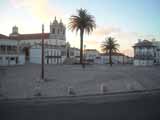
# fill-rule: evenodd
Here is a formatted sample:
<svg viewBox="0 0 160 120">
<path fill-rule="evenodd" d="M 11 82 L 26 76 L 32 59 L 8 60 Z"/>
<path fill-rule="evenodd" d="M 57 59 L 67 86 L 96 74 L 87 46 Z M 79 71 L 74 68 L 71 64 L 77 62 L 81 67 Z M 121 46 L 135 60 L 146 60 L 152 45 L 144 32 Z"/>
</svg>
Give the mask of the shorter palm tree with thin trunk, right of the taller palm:
<svg viewBox="0 0 160 120">
<path fill-rule="evenodd" d="M 105 52 L 106 54 L 109 53 L 109 64 L 112 66 L 112 54 L 114 52 L 119 51 L 118 47 L 119 44 L 116 43 L 117 41 L 112 38 L 108 37 L 105 39 L 105 41 L 102 42 L 102 51 Z"/>
</svg>

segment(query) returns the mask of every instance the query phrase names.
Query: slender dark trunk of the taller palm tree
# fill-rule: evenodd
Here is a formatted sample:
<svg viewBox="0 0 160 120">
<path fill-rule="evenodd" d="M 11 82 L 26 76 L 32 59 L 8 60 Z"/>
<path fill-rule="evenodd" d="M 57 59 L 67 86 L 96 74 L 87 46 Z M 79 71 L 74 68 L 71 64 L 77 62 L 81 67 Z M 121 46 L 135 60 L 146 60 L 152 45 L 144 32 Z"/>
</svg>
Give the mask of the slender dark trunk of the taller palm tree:
<svg viewBox="0 0 160 120">
<path fill-rule="evenodd" d="M 83 34 L 84 30 L 80 30 L 80 64 L 83 64 Z"/>
</svg>

